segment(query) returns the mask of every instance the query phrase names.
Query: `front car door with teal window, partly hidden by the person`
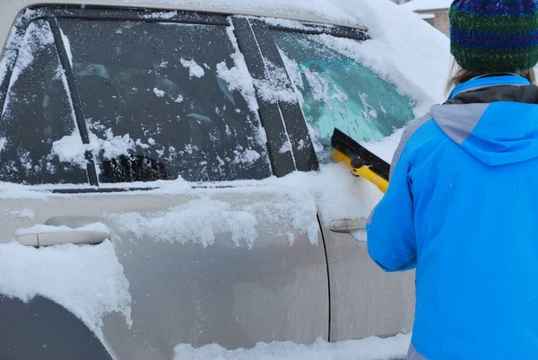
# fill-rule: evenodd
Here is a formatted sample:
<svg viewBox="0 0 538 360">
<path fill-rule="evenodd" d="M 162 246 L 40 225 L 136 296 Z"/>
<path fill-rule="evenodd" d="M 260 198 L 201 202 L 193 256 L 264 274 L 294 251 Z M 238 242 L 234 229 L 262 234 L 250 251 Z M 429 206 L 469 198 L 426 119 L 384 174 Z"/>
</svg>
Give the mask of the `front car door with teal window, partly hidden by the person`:
<svg viewBox="0 0 538 360">
<path fill-rule="evenodd" d="M 413 118 L 414 101 L 402 94 L 405 89 L 396 89 L 395 84 L 361 63 L 360 43 L 373 40 L 358 30 L 298 29 L 273 26 L 271 33 L 299 93 L 320 162 L 333 161 L 331 136 L 335 127 L 391 162 L 401 134 L 395 130 Z M 387 137 L 384 145 L 378 145 Z M 341 182 L 344 186 L 344 180 Z M 365 180 L 357 180 L 354 187 L 342 209 L 329 213 L 322 208 L 320 212 L 333 341 L 412 329 L 414 275 L 386 274 L 368 255 L 366 219 L 382 194 Z M 351 206 L 346 209 L 346 204 Z"/>
</svg>

